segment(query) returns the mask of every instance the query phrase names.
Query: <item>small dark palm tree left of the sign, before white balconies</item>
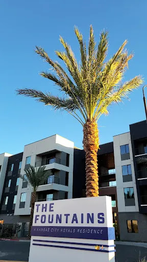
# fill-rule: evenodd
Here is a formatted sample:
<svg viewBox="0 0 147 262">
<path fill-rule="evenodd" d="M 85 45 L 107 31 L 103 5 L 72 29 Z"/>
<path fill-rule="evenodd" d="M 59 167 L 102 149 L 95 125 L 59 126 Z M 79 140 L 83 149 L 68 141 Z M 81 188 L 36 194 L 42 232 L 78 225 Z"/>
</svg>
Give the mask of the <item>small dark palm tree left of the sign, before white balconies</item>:
<svg viewBox="0 0 147 262">
<path fill-rule="evenodd" d="M 30 223 L 29 223 L 29 232 L 28 238 L 31 238 L 31 227 L 33 224 L 33 214 L 34 214 L 34 205 L 36 202 L 36 192 L 37 188 L 40 185 L 43 185 L 49 176 L 51 176 L 51 170 L 45 170 L 44 166 L 40 166 L 39 168 L 34 168 L 34 166 L 30 166 L 29 169 L 24 170 L 26 172 L 26 177 L 20 174 L 20 178 L 29 183 L 30 188 L 32 190 L 31 195 L 31 215 L 30 215 Z"/>
</svg>

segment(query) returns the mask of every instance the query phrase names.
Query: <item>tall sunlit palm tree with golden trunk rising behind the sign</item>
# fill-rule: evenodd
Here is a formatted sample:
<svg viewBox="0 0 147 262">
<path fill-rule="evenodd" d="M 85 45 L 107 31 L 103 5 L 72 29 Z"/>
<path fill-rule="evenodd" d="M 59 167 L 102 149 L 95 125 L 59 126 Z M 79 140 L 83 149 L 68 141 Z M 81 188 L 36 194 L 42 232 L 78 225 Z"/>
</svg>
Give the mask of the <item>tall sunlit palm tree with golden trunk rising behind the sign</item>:
<svg viewBox="0 0 147 262">
<path fill-rule="evenodd" d="M 96 48 L 93 29 L 90 26 L 88 49 L 86 49 L 82 34 L 76 27 L 75 33 L 80 45 L 80 64 L 62 37 L 60 41 L 65 51 L 56 51 L 56 55 L 64 61 L 67 70 L 64 70 L 58 62 L 53 61 L 41 47 L 36 47 L 36 53 L 51 65 L 53 71 L 53 73 L 41 72 L 40 75 L 58 85 L 65 96 L 54 96 L 49 92 L 43 93 L 34 89 L 18 89 L 16 92 L 19 95 L 35 97 L 39 102 L 51 105 L 55 109 L 65 110 L 82 124 L 83 146 L 86 152 L 86 196 L 97 197 L 99 195 L 97 120 L 103 114 L 108 115 L 108 107 L 113 102 L 120 102 L 130 91 L 137 88 L 142 83 L 142 78 L 135 76 L 124 84 L 121 83 L 128 68 L 128 61 L 133 57 L 133 54 L 128 55 L 127 50 L 124 50 L 127 40 L 106 62 L 107 32 L 101 33 L 100 42 Z"/>
</svg>

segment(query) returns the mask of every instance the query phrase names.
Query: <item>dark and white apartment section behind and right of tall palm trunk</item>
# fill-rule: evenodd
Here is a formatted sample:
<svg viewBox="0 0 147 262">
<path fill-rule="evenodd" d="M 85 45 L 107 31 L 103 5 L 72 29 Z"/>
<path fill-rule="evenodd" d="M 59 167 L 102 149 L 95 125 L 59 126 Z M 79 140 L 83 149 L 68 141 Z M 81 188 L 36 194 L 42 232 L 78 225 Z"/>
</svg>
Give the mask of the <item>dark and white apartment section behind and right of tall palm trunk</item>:
<svg viewBox="0 0 147 262">
<path fill-rule="evenodd" d="M 131 124 L 130 132 L 100 145 L 97 154 L 99 194 L 112 198 L 113 223 L 121 240 L 146 242 L 147 165 L 137 163 L 142 157 L 147 158 L 146 121 Z M 85 197 L 85 182 L 84 150 L 75 149 L 73 198 Z"/>
</svg>

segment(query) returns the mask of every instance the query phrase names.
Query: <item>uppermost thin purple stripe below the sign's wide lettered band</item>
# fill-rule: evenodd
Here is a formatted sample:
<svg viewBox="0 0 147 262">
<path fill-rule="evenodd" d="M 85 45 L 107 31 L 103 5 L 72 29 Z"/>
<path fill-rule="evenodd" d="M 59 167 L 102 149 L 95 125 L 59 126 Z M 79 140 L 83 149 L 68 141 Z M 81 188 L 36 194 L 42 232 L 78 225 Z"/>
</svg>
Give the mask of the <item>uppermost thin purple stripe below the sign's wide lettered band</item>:
<svg viewBox="0 0 147 262">
<path fill-rule="evenodd" d="M 45 242 L 45 243 L 58 243 L 58 244 L 70 244 L 70 245 L 82 245 L 82 246 L 103 246 L 103 247 L 116 247 L 116 245 L 103 245 L 103 244 L 89 244 L 89 243 L 79 243 L 79 242 L 64 242 L 64 241 L 52 241 L 52 240 L 41 240 L 33 239 L 34 242 Z"/>
</svg>

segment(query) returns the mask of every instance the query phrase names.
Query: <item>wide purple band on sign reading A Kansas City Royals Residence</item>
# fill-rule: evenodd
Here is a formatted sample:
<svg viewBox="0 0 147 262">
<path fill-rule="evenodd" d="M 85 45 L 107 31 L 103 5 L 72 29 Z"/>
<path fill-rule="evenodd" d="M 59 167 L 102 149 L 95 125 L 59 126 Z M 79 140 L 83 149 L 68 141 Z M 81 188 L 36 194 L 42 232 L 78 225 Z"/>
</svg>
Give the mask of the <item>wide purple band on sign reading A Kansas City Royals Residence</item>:
<svg viewBox="0 0 147 262">
<path fill-rule="evenodd" d="M 115 239 L 114 228 L 108 227 L 48 227 L 33 226 L 32 236 L 71 237 L 85 239 Z"/>
</svg>

